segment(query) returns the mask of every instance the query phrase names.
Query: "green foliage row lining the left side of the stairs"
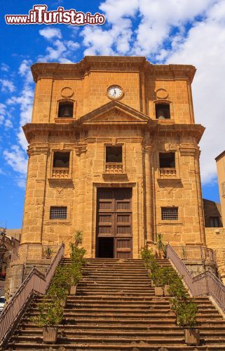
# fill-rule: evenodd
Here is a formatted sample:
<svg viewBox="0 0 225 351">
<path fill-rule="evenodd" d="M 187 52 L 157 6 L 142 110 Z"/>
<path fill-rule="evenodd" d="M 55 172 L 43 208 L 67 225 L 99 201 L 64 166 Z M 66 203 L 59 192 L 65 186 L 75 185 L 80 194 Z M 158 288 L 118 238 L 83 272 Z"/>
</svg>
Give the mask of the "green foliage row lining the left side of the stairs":
<svg viewBox="0 0 225 351">
<path fill-rule="evenodd" d="M 71 264 L 60 265 L 56 268 L 46 298 L 39 304 L 39 314 L 32 320 L 38 326 L 55 326 L 62 322 L 62 303 L 67 298 L 71 285 L 76 285 L 82 278 L 83 256 L 86 250 L 79 247 L 82 244 L 83 232 L 77 230 L 73 241 L 69 243 Z"/>
</svg>

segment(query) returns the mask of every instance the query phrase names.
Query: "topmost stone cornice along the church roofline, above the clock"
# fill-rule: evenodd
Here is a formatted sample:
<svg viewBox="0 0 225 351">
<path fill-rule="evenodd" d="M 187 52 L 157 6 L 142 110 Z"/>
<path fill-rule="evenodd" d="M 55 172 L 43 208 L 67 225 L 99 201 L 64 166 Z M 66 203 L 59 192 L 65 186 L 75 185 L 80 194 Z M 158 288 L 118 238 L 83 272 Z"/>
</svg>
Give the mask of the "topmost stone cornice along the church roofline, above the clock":
<svg viewBox="0 0 225 351">
<path fill-rule="evenodd" d="M 193 80 L 192 65 L 152 65 L 144 56 L 85 56 L 78 63 L 35 63 L 31 67 L 34 81 L 41 78 L 82 79 L 90 71 L 144 72 L 154 79 Z"/>
</svg>

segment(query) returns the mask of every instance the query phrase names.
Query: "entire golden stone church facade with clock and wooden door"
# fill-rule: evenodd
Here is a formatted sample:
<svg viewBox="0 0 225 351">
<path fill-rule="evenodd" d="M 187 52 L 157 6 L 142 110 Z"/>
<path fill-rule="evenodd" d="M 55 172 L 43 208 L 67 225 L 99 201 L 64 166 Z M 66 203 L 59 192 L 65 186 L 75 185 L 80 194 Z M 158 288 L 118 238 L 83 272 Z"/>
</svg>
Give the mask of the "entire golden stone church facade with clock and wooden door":
<svg viewBox="0 0 225 351">
<path fill-rule="evenodd" d="M 205 245 L 191 65 L 86 56 L 36 63 L 21 248 L 83 231 L 87 257 L 139 258 L 158 234 Z"/>
</svg>

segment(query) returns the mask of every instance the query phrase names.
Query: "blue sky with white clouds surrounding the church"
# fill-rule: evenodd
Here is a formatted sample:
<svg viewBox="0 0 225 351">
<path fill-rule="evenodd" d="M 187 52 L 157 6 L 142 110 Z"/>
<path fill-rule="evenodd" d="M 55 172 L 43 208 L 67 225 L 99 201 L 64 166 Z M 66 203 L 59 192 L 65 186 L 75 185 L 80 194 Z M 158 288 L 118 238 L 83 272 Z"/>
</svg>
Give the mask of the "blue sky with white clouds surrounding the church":
<svg viewBox="0 0 225 351">
<path fill-rule="evenodd" d="M 38 3 L 40 3 L 39 1 Z M 223 0 L 44 1 L 84 13 L 100 12 L 104 25 L 6 25 L 4 15 L 27 14 L 33 1 L 1 3 L 0 225 L 22 226 L 27 143 L 21 126 L 32 113 L 34 62 L 79 62 L 83 55 L 144 55 L 153 63 L 192 64 L 203 197 L 219 201 L 214 157 L 225 149 L 225 2 Z"/>
</svg>

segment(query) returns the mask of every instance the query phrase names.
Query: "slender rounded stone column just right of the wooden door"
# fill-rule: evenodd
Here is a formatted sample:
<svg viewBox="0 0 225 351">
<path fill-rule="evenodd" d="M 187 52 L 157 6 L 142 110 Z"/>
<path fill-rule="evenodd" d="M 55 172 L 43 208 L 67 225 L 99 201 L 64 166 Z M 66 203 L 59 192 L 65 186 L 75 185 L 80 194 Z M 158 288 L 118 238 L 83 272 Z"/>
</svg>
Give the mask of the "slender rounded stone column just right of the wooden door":
<svg viewBox="0 0 225 351">
<path fill-rule="evenodd" d="M 153 147 L 144 145 L 145 165 L 145 211 L 146 211 L 146 244 L 154 243 L 154 222 L 153 222 L 153 192 L 151 179 L 151 156 Z"/>
</svg>

